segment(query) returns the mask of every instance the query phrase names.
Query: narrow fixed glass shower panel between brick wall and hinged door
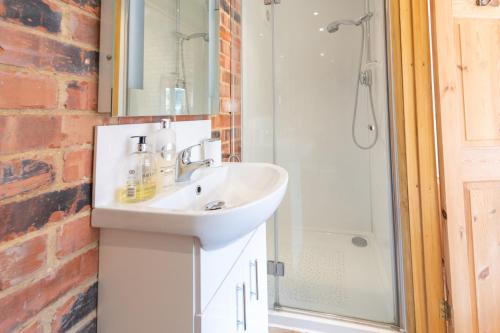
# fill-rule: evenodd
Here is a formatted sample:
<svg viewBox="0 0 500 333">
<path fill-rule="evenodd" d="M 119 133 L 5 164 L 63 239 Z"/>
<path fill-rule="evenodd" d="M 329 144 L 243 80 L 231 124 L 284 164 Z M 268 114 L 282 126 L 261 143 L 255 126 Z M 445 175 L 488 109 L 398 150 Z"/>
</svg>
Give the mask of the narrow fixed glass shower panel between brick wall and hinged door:
<svg viewBox="0 0 500 333">
<path fill-rule="evenodd" d="M 242 1 L 242 146 L 243 161 L 274 160 L 272 8 L 261 1 Z M 245 75 L 247 74 L 247 75 Z M 267 223 L 267 257 L 275 260 L 274 219 Z M 269 306 L 275 278 L 268 275 Z"/>
</svg>

